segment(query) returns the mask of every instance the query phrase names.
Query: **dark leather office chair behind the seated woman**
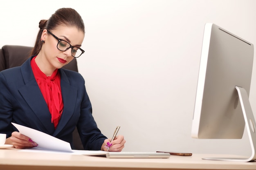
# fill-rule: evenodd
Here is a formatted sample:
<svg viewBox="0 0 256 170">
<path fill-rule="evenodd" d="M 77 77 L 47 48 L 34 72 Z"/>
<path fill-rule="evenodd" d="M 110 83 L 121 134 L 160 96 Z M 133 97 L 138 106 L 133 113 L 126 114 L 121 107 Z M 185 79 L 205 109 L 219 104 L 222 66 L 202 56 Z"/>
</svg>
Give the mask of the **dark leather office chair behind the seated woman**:
<svg viewBox="0 0 256 170">
<path fill-rule="evenodd" d="M 2 49 L 0 49 L 0 71 L 22 65 L 29 57 L 32 49 L 33 47 L 29 46 L 2 46 Z M 78 72 L 76 58 L 74 58 L 69 64 L 63 66 L 63 68 Z M 83 150 L 83 144 L 77 128 L 75 128 L 73 132 L 73 144 L 73 149 Z"/>
</svg>

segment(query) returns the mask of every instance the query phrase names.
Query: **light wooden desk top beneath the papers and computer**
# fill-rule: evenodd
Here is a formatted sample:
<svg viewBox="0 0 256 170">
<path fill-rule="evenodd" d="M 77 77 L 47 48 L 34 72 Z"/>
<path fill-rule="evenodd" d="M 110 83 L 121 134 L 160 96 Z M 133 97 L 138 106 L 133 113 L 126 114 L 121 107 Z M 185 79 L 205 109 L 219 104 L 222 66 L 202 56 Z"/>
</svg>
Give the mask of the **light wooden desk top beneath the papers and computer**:
<svg viewBox="0 0 256 170">
<path fill-rule="evenodd" d="M 168 159 L 109 159 L 59 153 L 18 152 L 0 149 L 0 170 L 256 170 L 254 162 L 202 160 L 230 155 L 171 156 Z M 233 156 L 234 157 L 234 156 Z"/>
</svg>

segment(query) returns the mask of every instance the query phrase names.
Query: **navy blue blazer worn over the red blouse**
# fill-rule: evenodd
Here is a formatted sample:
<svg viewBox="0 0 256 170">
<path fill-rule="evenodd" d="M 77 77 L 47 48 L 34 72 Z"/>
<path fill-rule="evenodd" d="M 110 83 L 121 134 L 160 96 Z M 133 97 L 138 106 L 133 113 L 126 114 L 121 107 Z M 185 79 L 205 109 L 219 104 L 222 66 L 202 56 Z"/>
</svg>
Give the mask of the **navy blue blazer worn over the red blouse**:
<svg viewBox="0 0 256 170">
<path fill-rule="evenodd" d="M 0 72 L 0 133 L 11 136 L 14 122 L 72 143 L 72 132 L 79 131 L 85 150 L 100 150 L 107 138 L 94 121 L 92 105 L 81 74 L 60 68 L 63 113 L 56 129 L 31 69 L 30 57 L 22 66 Z M 36 142 L 36 141 L 35 141 Z M 51 142 L 51 141 L 49 141 Z"/>
</svg>

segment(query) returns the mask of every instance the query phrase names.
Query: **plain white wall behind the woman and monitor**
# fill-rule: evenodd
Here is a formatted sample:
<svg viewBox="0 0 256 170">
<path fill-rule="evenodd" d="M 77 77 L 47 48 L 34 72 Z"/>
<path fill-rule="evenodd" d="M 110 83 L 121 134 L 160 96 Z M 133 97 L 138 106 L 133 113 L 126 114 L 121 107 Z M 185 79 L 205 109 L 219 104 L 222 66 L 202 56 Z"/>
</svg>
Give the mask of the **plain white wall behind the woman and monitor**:
<svg viewBox="0 0 256 170">
<path fill-rule="evenodd" d="M 204 24 L 256 44 L 256 1 L 8 0 L 0 6 L 0 47 L 33 46 L 38 22 L 61 7 L 76 9 L 85 22 L 79 72 L 99 128 L 111 137 L 120 125 L 125 151 L 250 154 L 247 135 L 192 139 L 191 123 Z M 254 115 L 255 74 L 254 66 Z"/>
</svg>

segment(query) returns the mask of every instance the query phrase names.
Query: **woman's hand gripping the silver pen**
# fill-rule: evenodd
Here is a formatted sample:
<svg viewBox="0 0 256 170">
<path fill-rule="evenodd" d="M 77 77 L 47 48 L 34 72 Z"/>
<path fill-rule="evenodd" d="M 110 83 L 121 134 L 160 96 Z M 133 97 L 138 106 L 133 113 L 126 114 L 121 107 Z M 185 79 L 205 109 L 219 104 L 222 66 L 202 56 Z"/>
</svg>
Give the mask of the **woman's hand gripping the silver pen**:
<svg viewBox="0 0 256 170">
<path fill-rule="evenodd" d="M 124 139 L 123 135 L 118 135 L 115 137 L 115 139 L 110 143 L 111 139 L 105 139 L 104 143 L 101 146 L 101 150 L 112 151 L 112 152 L 121 152 L 124 148 L 124 144 L 126 143 L 126 140 Z"/>
</svg>

